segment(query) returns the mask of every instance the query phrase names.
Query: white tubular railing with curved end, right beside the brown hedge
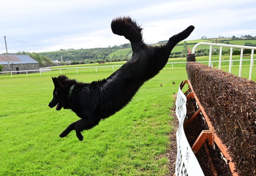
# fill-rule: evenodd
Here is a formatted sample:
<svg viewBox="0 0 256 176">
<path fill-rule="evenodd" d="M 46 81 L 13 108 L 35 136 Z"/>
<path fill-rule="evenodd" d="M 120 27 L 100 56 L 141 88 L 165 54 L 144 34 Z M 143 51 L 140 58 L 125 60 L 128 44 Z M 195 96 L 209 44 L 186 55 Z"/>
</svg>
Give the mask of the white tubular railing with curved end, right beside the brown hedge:
<svg viewBox="0 0 256 176">
<path fill-rule="evenodd" d="M 243 49 L 251 49 L 251 63 L 250 63 L 250 73 L 249 73 L 249 80 L 251 80 L 252 78 L 252 69 L 253 69 L 253 54 L 254 54 L 254 49 L 256 49 L 256 47 L 254 46 L 242 46 L 242 45 L 230 45 L 230 44 L 219 44 L 219 43 L 208 43 L 208 42 L 200 42 L 198 44 L 196 44 L 193 49 L 192 49 L 192 53 L 195 53 L 196 51 L 196 47 L 198 45 L 210 45 L 210 52 L 209 52 L 209 66 L 211 66 L 211 58 L 212 58 L 212 46 L 219 46 L 219 69 L 221 69 L 221 60 L 222 60 L 222 47 L 229 47 L 230 48 L 230 57 L 229 57 L 229 70 L 228 72 L 231 73 L 231 61 L 232 61 L 232 52 L 233 52 L 233 48 L 240 48 L 241 52 L 240 52 L 240 63 L 239 63 L 239 77 L 241 77 L 241 73 L 242 73 L 242 61 L 243 61 Z"/>
</svg>

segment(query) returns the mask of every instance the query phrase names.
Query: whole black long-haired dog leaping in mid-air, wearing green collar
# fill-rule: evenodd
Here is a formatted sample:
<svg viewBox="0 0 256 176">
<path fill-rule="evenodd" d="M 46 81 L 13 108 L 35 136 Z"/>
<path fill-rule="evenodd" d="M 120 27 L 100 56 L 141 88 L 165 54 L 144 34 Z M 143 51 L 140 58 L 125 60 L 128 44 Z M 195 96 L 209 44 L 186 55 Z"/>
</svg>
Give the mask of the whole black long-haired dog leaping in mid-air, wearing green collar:
<svg viewBox="0 0 256 176">
<path fill-rule="evenodd" d="M 59 136 L 66 137 L 75 130 L 82 141 L 83 130 L 98 125 L 101 119 L 113 115 L 127 105 L 142 84 L 153 78 L 166 65 L 171 50 L 194 30 L 189 26 L 172 36 L 166 45 L 147 46 L 142 39 L 142 28 L 130 17 L 112 20 L 114 34 L 123 35 L 131 42 L 132 58 L 108 78 L 91 83 L 77 82 L 66 76 L 53 77 L 53 99 L 49 107 L 71 109 L 81 119 L 70 124 Z"/>
</svg>

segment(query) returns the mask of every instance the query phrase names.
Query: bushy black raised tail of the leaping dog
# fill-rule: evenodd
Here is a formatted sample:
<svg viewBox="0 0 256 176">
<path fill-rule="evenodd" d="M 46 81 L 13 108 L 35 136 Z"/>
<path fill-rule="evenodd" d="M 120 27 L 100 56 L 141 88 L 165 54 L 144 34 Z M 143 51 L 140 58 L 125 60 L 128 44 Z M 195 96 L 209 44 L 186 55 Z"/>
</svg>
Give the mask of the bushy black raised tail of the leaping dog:
<svg viewBox="0 0 256 176">
<path fill-rule="evenodd" d="M 111 29 L 114 34 L 124 36 L 131 44 L 143 42 L 142 28 L 128 16 L 114 18 L 111 22 Z"/>
</svg>

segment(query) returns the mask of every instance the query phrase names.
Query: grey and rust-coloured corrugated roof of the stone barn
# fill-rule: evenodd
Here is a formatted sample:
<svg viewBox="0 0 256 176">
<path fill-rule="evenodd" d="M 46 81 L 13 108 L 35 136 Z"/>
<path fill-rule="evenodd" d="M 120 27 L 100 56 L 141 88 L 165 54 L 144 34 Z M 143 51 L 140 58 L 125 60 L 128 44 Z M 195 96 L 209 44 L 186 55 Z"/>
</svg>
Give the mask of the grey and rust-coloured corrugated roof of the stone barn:
<svg viewBox="0 0 256 176">
<path fill-rule="evenodd" d="M 33 58 L 31 58 L 29 55 L 8 55 L 9 58 L 9 64 L 35 64 L 39 63 Z M 0 54 L 0 64 L 1 65 L 7 65 L 7 55 Z"/>
</svg>

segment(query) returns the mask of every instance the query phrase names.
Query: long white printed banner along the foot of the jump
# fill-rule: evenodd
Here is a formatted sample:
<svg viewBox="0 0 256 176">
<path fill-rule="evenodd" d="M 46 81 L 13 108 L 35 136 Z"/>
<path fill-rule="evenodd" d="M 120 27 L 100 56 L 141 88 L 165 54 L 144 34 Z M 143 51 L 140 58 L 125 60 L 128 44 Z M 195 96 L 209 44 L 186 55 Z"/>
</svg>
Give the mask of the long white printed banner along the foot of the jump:
<svg viewBox="0 0 256 176">
<path fill-rule="evenodd" d="M 181 84 L 180 84 L 181 86 Z M 179 120 L 179 128 L 176 132 L 177 139 L 177 158 L 175 166 L 176 176 L 204 176 L 203 171 L 197 161 L 195 154 L 193 153 L 185 132 L 184 132 L 184 120 L 187 113 L 186 101 L 187 98 L 181 91 L 177 93 L 176 99 L 176 116 Z"/>
</svg>

